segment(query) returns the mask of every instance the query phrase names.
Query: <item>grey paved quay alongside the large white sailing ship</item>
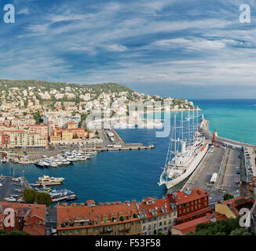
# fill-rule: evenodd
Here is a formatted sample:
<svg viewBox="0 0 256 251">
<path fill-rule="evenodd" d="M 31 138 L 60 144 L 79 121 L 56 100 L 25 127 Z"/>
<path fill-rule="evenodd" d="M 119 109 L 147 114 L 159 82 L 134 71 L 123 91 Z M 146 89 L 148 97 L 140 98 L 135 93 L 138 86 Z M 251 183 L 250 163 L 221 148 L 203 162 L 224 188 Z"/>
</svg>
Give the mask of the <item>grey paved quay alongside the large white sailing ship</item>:
<svg viewBox="0 0 256 251">
<path fill-rule="evenodd" d="M 212 133 L 208 130 L 208 121 L 202 118 L 199 132 L 203 134 L 211 143 Z M 255 146 L 245 144 L 236 140 L 229 140 L 220 136 L 215 136 L 217 147 L 211 146 L 199 163 L 195 172 L 188 178 L 181 191 L 191 190 L 196 187 L 202 188 L 210 194 L 210 205 L 221 200 L 225 193 L 234 196 L 241 194 L 242 181 L 246 179 L 244 167 L 244 147 L 249 153 L 254 153 Z M 239 170 L 237 170 L 239 169 Z M 253 166 L 256 174 L 256 167 Z M 215 182 L 210 182 L 211 176 L 217 173 Z"/>
</svg>

